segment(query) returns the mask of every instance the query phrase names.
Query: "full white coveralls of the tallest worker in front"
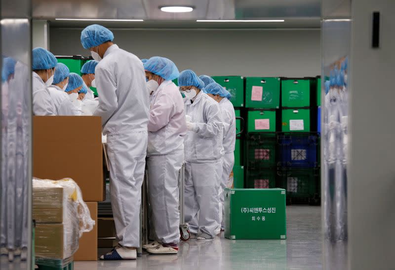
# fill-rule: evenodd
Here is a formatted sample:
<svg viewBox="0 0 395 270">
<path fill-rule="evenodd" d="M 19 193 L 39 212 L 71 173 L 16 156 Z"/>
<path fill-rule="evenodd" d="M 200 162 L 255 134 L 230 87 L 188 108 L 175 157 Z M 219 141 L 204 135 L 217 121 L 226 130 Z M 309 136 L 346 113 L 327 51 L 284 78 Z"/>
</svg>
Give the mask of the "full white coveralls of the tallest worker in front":
<svg viewBox="0 0 395 270">
<path fill-rule="evenodd" d="M 147 155 L 148 93 L 143 64 L 114 44 L 96 66 L 99 106 L 107 135 L 110 194 L 119 244 L 140 246 L 141 186 Z"/>
</svg>

